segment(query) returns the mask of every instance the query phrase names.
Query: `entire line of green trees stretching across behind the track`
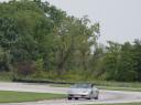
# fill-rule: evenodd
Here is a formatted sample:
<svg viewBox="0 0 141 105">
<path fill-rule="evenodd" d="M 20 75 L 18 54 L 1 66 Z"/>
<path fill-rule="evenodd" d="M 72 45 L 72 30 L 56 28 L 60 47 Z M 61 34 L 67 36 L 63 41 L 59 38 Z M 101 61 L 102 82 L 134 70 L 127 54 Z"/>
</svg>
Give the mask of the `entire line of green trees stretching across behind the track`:
<svg viewBox="0 0 141 105">
<path fill-rule="evenodd" d="M 13 77 L 141 81 L 141 41 L 99 45 L 99 23 L 48 2 L 0 3 L 0 71 Z"/>
</svg>

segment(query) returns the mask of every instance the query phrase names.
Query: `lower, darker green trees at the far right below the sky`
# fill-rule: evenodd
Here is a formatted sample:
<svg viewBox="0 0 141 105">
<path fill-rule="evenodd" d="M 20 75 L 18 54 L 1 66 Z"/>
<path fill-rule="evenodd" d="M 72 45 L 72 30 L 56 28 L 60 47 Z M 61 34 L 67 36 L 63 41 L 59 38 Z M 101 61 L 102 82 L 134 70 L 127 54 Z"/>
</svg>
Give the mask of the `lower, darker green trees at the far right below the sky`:
<svg viewBox="0 0 141 105">
<path fill-rule="evenodd" d="M 109 43 L 107 53 L 104 56 L 105 78 L 115 81 L 140 81 L 140 40 L 134 44 Z M 137 54 L 138 53 L 138 54 Z"/>
</svg>

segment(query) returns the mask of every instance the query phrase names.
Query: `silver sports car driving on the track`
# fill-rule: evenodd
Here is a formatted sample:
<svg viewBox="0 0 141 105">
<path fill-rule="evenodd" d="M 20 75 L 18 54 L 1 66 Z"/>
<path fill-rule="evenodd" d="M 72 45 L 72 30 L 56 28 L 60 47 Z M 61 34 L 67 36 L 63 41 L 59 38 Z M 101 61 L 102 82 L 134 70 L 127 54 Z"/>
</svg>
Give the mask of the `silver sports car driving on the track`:
<svg viewBox="0 0 141 105">
<path fill-rule="evenodd" d="M 75 98 L 87 98 L 98 99 L 99 90 L 93 84 L 75 84 L 68 90 L 68 99 Z"/>
</svg>

